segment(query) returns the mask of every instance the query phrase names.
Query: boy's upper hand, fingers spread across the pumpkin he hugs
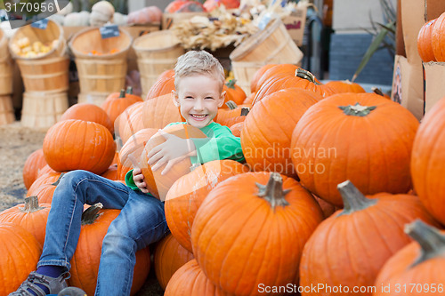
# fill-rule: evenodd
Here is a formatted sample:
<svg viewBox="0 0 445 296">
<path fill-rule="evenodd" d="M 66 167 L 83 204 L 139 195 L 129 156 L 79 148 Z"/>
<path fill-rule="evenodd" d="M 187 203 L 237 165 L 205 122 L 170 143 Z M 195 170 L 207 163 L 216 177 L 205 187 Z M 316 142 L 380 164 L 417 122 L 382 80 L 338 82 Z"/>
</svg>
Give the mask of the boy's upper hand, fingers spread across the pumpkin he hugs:
<svg viewBox="0 0 445 296">
<path fill-rule="evenodd" d="M 182 139 L 173 134 L 159 130 L 159 134 L 166 138 L 166 141 L 155 148 L 152 148 L 147 155 L 151 171 L 158 170 L 159 167 L 166 164 L 161 175 L 166 174 L 172 166 L 179 163 L 187 156 L 196 155 L 196 148 L 190 139 Z"/>
</svg>

